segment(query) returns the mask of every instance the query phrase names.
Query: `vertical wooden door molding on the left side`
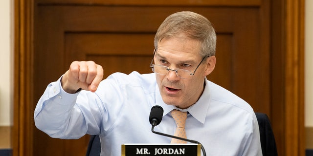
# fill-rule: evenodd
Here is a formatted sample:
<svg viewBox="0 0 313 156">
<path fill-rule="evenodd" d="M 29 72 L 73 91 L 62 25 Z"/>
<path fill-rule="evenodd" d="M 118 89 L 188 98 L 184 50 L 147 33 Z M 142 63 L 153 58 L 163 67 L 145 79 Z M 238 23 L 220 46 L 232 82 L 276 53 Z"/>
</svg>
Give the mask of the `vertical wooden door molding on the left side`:
<svg viewBox="0 0 313 156">
<path fill-rule="evenodd" d="M 13 156 L 32 156 L 31 99 L 33 0 L 14 0 Z"/>
</svg>

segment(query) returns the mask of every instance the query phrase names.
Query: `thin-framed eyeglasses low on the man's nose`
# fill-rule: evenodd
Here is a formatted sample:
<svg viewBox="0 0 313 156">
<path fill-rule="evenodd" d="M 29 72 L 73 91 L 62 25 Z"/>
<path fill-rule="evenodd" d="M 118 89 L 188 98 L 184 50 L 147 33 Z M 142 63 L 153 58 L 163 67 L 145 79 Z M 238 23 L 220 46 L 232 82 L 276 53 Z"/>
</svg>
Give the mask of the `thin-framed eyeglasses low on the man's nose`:
<svg viewBox="0 0 313 156">
<path fill-rule="evenodd" d="M 167 66 L 164 66 L 164 65 L 157 65 L 157 64 L 152 64 L 153 63 L 153 60 L 154 60 L 154 56 L 156 54 L 156 49 L 154 51 L 154 54 L 153 54 L 153 58 L 151 60 L 151 63 L 150 63 L 150 68 L 152 69 L 152 71 L 156 74 L 159 74 L 159 75 L 166 75 L 169 71 L 174 71 L 176 73 L 176 75 L 179 77 L 179 78 L 184 78 L 184 79 L 190 79 L 192 78 L 193 75 L 195 75 L 197 69 L 199 68 L 200 64 L 203 62 L 203 60 L 205 58 L 209 58 L 211 57 L 210 55 L 206 55 L 202 60 L 201 62 L 198 64 L 198 66 L 196 67 L 196 69 L 194 70 L 194 72 L 190 72 L 188 70 L 184 70 L 184 69 L 170 69 L 169 67 Z"/>
</svg>

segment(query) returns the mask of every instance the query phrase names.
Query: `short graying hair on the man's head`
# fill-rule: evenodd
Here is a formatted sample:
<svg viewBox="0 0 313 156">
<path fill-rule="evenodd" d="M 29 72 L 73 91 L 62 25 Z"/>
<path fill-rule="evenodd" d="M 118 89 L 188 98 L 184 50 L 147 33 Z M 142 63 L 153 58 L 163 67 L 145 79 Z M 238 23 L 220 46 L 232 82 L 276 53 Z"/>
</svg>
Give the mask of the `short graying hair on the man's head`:
<svg viewBox="0 0 313 156">
<path fill-rule="evenodd" d="M 167 17 L 158 27 L 154 44 L 157 44 L 164 38 L 177 37 L 185 35 L 190 39 L 197 39 L 201 42 L 200 55 L 215 55 L 216 34 L 209 20 L 204 16 L 190 12 L 177 12 Z"/>
</svg>

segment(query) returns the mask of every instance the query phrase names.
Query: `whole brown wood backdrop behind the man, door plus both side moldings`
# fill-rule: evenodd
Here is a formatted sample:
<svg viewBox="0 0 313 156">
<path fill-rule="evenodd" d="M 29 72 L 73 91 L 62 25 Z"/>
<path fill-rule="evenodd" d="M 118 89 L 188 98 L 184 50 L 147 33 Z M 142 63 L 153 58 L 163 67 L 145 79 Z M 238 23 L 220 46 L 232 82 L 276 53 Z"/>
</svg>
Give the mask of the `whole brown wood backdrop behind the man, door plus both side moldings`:
<svg viewBox="0 0 313 156">
<path fill-rule="evenodd" d="M 157 27 L 190 10 L 217 31 L 217 66 L 208 78 L 268 114 L 279 155 L 303 156 L 301 8 L 303 0 L 15 0 L 13 155 L 84 156 L 88 136 L 52 139 L 34 127 L 46 85 L 73 60 L 94 60 L 105 76 L 150 72 Z"/>
</svg>

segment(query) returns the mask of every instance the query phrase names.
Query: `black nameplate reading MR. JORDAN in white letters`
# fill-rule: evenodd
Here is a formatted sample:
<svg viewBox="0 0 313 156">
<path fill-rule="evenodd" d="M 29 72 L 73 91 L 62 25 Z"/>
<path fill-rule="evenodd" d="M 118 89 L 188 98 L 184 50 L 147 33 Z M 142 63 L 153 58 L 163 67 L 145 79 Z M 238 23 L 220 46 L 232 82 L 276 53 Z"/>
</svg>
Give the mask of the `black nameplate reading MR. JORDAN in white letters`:
<svg viewBox="0 0 313 156">
<path fill-rule="evenodd" d="M 201 156 L 200 144 L 124 144 L 122 156 Z"/>
</svg>

